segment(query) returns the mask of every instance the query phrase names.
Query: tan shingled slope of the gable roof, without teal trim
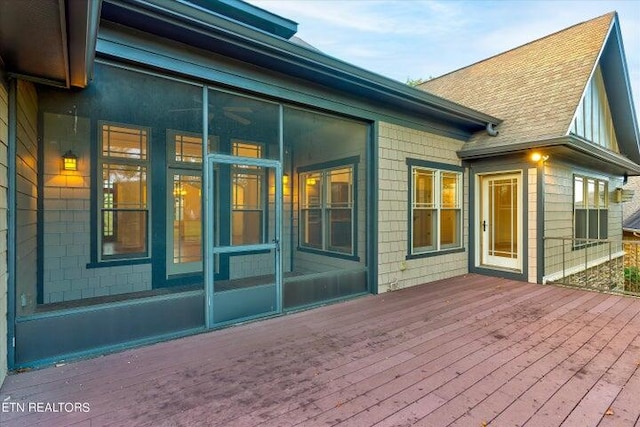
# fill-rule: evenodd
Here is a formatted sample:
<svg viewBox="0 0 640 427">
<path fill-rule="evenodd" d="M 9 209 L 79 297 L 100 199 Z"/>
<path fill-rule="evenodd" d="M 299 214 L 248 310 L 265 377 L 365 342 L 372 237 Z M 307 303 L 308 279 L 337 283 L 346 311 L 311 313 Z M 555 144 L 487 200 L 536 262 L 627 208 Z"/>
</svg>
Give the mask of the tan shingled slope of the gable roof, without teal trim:
<svg viewBox="0 0 640 427">
<path fill-rule="evenodd" d="M 497 137 L 480 132 L 465 148 L 567 135 L 615 16 L 574 25 L 419 88 L 504 120 Z"/>
</svg>

